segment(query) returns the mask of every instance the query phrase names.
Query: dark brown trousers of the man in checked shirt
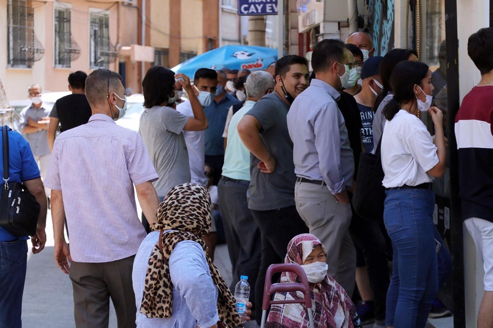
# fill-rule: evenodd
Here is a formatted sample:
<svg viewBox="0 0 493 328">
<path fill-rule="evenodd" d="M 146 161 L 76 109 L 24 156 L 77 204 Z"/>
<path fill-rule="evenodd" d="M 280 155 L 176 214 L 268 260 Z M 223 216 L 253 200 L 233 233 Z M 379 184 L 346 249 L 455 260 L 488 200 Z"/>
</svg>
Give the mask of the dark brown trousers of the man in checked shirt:
<svg viewBox="0 0 493 328">
<path fill-rule="evenodd" d="M 108 327 L 109 298 L 118 328 L 135 328 L 137 308 L 132 287 L 135 256 L 103 263 L 71 262 L 75 327 Z"/>
</svg>

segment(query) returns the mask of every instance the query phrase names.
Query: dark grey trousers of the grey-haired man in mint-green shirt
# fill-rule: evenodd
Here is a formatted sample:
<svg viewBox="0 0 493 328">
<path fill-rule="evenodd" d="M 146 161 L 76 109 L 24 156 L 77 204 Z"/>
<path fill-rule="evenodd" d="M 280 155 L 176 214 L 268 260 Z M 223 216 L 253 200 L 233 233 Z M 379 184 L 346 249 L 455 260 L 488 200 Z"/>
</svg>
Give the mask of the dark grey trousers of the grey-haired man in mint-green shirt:
<svg viewBox="0 0 493 328">
<path fill-rule="evenodd" d="M 260 265 L 260 230 L 253 220 L 246 201 L 249 181 L 222 178 L 217 185 L 233 281 L 230 289 L 234 293 L 240 276 L 248 276 L 250 300 L 255 299 L 255 283 Z M 254 304 L 254 306 L 257 304 Z M 259 308 L 259 307 L 257 307 Z"/>
</svg>

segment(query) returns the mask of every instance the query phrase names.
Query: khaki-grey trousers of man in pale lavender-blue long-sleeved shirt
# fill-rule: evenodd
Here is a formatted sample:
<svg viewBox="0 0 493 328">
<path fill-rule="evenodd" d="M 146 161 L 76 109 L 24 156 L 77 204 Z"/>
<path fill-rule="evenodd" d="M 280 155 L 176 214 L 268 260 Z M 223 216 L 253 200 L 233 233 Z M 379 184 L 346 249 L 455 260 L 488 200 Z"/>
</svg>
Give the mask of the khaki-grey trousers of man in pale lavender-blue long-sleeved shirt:
<svg viewBox="0 0 493 328">
<path fill-rule="evenodd" d="M 327 273 L 348 293 L 354 291 L 356 251 L 349 235 L 351 205 L 336 200 L 327 186 L 296 182 L 296 209 L 327 252 Z"/>
</svg>

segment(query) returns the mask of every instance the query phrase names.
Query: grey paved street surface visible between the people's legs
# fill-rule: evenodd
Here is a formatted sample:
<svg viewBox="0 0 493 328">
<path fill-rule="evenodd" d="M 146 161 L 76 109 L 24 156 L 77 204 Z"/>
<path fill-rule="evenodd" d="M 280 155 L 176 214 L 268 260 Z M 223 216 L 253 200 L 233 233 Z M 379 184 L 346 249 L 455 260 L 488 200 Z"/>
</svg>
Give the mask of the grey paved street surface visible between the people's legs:
<svg viewBox="0 0 493 328">
<path fill-rule="evenodd" d="M 48 239 L 45 249 L 36 255 L 31 252 L 28 254 L 22 323 L 24 327 L 72 328 L 75 327 L 72 286 L 69 276 L 62 273 L 53 260 L 53 228 L 50 211 L 48 211 L 46 221 Z M 214 262 L 226 280 L 226 284 L 229 285 L 231 283 L 231 265 L 227 252 L 226 245 L 219 245 L 215 250 Z M 111 302 L 110 314 L 109 327 L 116 327 L 116 317 Z M 248 323 L 245 327 L 257 326 Z M 372 327 L 373 325 L 365 326 L 365 328 Z M 453 324 L 451 318 L 446 318 L 434 320 L 433 326 L 428 327 L 450 328 L 453 327 Z"/>
</svg>

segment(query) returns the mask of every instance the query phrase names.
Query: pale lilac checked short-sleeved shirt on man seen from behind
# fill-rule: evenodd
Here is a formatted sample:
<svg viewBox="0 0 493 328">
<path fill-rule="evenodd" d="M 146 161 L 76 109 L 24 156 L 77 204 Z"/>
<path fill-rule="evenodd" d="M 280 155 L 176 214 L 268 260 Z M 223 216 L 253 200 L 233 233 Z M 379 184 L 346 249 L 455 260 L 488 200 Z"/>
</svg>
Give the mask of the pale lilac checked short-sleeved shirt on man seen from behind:
<svg viewBox="0 0 493 328">
<path fill-rule="evenodd" d="M 139 133 L 94 114 L 61 133 L 44 185 L 61 190 L 75 262 L 111 262 L 133 256 L 145 238 L 133 185 L 158 175 Z"/>
</svg>

